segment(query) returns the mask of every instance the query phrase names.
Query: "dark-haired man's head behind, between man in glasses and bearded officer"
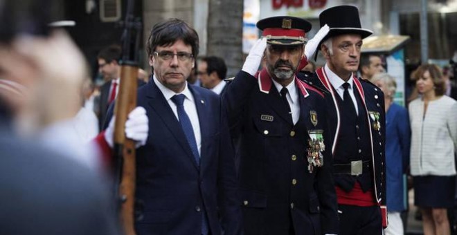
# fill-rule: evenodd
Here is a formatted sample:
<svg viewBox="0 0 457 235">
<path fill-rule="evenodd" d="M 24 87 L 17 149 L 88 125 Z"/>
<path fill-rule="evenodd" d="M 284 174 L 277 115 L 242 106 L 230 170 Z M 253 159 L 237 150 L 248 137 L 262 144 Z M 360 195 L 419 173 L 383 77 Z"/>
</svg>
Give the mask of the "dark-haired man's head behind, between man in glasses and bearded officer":
<svg viewBox="0 0 457 235">
<path fill-rule="evenodd" d="M 201 86 L 208 88 L 217 95 L 223 95 L 226 91 L 227 66 L 221 57 L 202 57 L 198 63 L 199 79 Z"/>
</svg>

